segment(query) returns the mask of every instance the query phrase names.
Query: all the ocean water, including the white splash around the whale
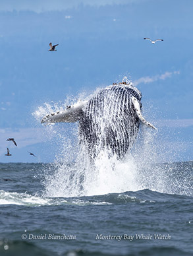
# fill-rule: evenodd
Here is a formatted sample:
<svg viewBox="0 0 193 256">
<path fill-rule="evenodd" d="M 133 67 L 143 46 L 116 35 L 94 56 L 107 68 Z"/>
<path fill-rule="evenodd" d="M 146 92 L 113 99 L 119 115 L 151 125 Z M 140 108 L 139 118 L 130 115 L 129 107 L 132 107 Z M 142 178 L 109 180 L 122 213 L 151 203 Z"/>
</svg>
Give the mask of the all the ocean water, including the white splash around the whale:
<svg viewBox="0 0 193 256">
<path fill-rule="evenodd" d="M 73 100 L 46 103 L 33 115 L 40 124 Z M 109 106 L 101 127 L 115 125 Z M 103 139 L 102 129 L 97 135 Z M 100 144 L 91 160 L 77 124 L 47 125 L 41 136 L 49 137 L 54 162 L 0 164 L 0 256 L 192 255 L 193 162 L 170 160 L 177 146 L 170 152 L 141 125 L 122 160 Z"/>
</svg>

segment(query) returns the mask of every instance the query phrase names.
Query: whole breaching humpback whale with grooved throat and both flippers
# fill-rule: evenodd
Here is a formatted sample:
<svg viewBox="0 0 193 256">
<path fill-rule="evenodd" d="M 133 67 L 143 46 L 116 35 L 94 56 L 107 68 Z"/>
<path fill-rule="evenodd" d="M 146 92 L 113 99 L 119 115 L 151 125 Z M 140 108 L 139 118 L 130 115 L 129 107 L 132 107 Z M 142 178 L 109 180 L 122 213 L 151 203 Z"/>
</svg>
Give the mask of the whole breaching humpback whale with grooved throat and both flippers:
<svg viewBox="0 0 193 256">
<path fill-rule="evenodd" d="M 41 123 L 78 121 L 80 143 L 88 148 L 91 158 L 103 148 L 123 158 L 138 135 L 140 123 L 156 129 L 142 116 L 141 98 L 138 88 L 120 82 L 99 90 L 88 101 L 46 115 Z"/>
</svg>

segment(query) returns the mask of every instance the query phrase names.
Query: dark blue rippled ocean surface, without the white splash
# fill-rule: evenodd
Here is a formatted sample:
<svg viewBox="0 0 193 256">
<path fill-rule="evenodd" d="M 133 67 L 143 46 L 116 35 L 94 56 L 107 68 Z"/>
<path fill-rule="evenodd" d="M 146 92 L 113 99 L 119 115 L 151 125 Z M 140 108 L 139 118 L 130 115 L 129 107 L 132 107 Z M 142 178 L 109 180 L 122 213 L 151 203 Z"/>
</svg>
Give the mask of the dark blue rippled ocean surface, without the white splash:
<svg viewBox="0 0 193 256">
<path fill-rule="evenodd" d="M 152 167 L 175 181 L 169 193 L 76 197 L 47 196 L 50 168 L 0 164 L 0 255 L 192 255 L 193 162 Z"/>
</svg>

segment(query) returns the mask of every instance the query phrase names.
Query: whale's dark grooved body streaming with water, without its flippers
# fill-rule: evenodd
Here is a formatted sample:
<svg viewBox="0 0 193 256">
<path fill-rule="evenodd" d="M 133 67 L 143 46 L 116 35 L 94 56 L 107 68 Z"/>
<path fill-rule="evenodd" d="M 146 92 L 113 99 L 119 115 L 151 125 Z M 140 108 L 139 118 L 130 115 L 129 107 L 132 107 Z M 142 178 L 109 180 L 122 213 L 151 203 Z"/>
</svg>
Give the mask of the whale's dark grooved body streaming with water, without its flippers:
<svg viewBox="0 0 193 256">
<path fill-rule="evenodd" d="M 141 94 L 132 86 L 115 85 L 100 90 L 88 101 L 79 122 L 79 133 L 92 158 L 103 148 L 122 158 L 134 143 L 140 121 L 131 96 L 140 102 Z"/>
</svg>

